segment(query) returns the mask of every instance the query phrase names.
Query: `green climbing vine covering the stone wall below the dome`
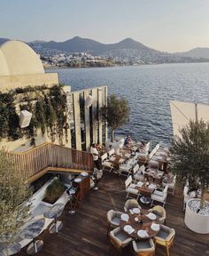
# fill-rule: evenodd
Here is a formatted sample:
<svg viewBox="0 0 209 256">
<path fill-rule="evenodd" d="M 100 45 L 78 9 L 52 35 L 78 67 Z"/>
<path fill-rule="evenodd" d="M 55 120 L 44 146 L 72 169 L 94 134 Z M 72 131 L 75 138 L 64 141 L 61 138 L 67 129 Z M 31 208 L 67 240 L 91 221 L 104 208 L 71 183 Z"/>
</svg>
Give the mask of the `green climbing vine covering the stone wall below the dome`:
<svg viewBox="0 0 209 256">
<path fill-rule="evenodd" d="M 19 128 L 19 110 L 32 113 L 30 124 L 26 128 Z M 13 91 L 0 92 L 0 140 L 17 140 L 23 137 L 31 140 L 35 145 L 37 130 L 42 134 L 47 132 L 50 140 L 58 139 L 59 144 L 66 142 L 68 108 L 66 93 L 62 85 L 51 88 L 43 86 L 16 88 Z"/>
</svg>

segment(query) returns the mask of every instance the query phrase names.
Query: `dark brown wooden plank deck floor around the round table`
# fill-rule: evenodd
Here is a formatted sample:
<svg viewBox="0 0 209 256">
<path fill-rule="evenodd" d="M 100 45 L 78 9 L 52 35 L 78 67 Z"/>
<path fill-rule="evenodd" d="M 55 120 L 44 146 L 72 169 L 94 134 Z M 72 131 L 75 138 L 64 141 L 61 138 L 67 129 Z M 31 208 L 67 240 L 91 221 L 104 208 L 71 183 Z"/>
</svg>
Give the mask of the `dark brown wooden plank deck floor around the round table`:
<svg viewBox="0 0 209 256">
<path fill-rule="evenodd" d="M 123 211 L 126 201 L 124 178 L 114 174 L 104 173 L 99 183 L 99 190 L 90 191 L 74 215 L 68 213 L 68 205 L 60 219 L 64 228 L 50 235 L 48 230 L 40 236 L 43 239 L 43 249 L 40 256 L 106 256 L 118 255 L 112 248 L 109 252 L 109 242 L 106 236 L 106 212 L 110 209 Z M 141 204 L 143 208 L 143 204 Z M 176 236 L 171 256 L 206 256 L 209 255 L 209 235 L 198 235 L 184 225 L 182 211 L 182 188 L 176 189 L 174 196 L 169 195 L 166 204 L 166 225 L 174 228 Z M 26 250 L 16 254 L 27 255 Z M 133 255 L 131 245 L 123 255 Z M 166 255 L 165 248 L 157 246 L 156 256 Z"/>
</svg>

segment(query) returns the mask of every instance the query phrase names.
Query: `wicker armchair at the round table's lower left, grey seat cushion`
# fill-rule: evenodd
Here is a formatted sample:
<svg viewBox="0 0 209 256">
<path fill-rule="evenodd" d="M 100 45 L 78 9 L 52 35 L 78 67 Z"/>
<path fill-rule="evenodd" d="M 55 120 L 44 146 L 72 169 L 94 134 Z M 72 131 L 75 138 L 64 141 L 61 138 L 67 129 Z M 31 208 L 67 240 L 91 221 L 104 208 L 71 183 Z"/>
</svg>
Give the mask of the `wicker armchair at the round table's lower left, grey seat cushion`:
<svg viewBox="0 0 209 256">
<path fill-rule="evenodd" d="M 120 255 L 122 249 L 126 247 L 131 241 L 132 238 L 130 238 L 120 227 L 114 228 L 110 232 L 110 242 L 117 249 L 117 251 L 120 252 Z"/>
</svg>

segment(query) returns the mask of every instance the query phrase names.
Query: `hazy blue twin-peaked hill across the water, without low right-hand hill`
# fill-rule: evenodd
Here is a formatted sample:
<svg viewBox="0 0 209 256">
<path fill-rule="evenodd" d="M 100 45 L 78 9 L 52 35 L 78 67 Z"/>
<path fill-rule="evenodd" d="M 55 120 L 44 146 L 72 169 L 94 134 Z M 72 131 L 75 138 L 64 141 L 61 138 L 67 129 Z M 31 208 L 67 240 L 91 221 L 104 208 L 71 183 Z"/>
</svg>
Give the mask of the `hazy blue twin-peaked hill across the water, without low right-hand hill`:
<svg viewBox="0 0 209 256">
<path fill-rule="evenodd" d="M 42 54 L 48 50 L 61 52 L 88 52 L 92 55 L 111 57 L 113 59 L 127 60 L 133 63 L 167 63 L 178 62 L 182 57 L 174 54 L 159 52 L 141 44 L 131 38 L 126 38 L 116 44 L 102 44 L 89 38 L 75 36 L 65 42 L 28 43 L 35 51 Z"/>
</svg>

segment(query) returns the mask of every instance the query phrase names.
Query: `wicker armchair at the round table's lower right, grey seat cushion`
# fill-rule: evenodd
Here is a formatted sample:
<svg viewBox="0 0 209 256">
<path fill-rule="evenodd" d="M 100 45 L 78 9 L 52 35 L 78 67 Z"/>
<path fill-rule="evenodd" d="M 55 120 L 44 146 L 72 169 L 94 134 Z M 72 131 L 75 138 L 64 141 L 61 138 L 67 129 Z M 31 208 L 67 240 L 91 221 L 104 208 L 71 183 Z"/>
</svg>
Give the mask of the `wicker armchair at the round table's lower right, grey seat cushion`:
<svg viewBox="0 0 209 256">
<path fill-rule="evenodd" d="M 170 247 L 174 243 L 174 228 L 168 228 L 164 225 L 161 225 L 159 234 L 154 237 L 154 243 L 166 247 L 166 255 L 170 255 Z"/>
</svg>

